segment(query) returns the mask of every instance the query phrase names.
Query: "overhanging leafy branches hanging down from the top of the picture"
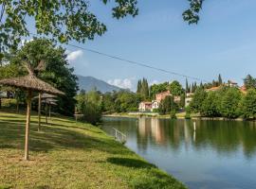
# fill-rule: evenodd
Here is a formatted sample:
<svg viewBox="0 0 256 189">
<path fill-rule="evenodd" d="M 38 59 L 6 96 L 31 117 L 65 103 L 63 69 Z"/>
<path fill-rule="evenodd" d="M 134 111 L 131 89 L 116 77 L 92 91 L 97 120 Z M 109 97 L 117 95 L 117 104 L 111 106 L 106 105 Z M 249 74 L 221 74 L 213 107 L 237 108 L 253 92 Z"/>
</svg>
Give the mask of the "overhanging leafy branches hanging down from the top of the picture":
<svg viewBox="0 0 256 189">
<path fill-rule="evenodd" d="M 27 17 L 35 23 L 36 32 L 53 38 L 60 43 L 76 40 L 84 43 L 102 35 L 106 26 L 89 10 L 89 0 L 0 1 L 0 53 L 10 46 L 15 47 L 22 37 L 29 36 Z M 102 0 L 104 4 L 110 0 Z M 189 0 L 190 8 L 183 13 L 189 24 L 197 23 L 203 0 Z M 137 0 L 115 0 L 112 9 L 114 18 L 120 19 L 138 13 Z"/>
</svg>

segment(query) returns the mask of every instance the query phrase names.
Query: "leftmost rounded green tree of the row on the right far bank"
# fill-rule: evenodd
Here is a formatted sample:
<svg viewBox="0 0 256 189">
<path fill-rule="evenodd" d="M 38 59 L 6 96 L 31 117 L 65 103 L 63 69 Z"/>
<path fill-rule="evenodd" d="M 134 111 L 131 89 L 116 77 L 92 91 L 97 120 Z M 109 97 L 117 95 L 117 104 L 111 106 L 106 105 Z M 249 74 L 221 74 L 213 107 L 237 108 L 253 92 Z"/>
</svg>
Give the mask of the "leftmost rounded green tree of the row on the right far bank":
<svg viewBox="0 0 256 189">
<path fill-rule="evenodd" d="M 190 104 L 190 109 L 192 112 L 202 112 L 203 111 L 203 102 L 207 98 L 207 93 L 204 89 L 198 88 L 192 98 Z"/>
</svg>

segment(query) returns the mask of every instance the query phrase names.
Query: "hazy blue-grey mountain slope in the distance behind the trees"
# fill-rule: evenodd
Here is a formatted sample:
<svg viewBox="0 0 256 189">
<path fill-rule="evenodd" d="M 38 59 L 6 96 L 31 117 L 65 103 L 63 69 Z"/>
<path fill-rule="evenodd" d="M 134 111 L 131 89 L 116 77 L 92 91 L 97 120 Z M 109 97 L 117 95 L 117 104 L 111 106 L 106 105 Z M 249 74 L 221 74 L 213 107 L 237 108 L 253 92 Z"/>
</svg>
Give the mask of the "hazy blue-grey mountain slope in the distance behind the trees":
<svg viewBox="0 0 256 189">
<path fill-rule="evenodd" d="M 112 91 L 119 91 L 122 90 L 121 88 L 110 85 L 107 82 L 95 78 L 95 77 L 82 77 L 78 76 L 79 78 L 79 89 L 80 90 L 85 90 L 85 91 L 91 91 L 93 89 L 97 89 L 98 91 L 101 91 L 101 93 L 106 93 L 106 92 L 112 92 Z"/>
</svg>

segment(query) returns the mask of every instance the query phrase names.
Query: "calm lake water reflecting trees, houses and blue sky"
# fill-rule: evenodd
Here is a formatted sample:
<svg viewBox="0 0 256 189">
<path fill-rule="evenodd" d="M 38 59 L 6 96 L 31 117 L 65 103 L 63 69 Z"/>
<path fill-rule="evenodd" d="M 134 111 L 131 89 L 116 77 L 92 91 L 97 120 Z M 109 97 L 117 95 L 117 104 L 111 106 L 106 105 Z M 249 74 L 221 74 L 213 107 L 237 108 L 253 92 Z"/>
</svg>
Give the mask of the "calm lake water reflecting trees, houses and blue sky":
<svg viewBox="0 0 256 189">
<path fill-rule="evenodd" d="M 193 129 L 196 122 L 196 130 Z M 104 118 L 103 129 L 192 189 L 256 188 L 256 123 Z"/>
</svg>

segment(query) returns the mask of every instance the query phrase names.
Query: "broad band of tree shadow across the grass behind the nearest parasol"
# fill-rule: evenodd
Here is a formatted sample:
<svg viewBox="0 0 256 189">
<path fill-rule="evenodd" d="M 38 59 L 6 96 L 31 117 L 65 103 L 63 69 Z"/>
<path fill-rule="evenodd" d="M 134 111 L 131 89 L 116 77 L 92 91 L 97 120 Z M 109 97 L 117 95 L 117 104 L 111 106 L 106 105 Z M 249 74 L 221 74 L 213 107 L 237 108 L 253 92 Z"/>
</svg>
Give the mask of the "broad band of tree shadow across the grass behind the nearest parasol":
<svg viewBox="0 0 256 189">
<path fill-rule="evenodd" d="M 24 148 L 25 122 L 22 119 L 0 119 L 0 148 Z M 23 126 L 24 125 L 24 126 Z M 54 126 L 43 127 L 43 132 L 37 131 L 37 122 L 30 125 L 29 149 L 31 151 L 47 152 L 53 148 L 80 148 L 84 150 L 100 150 L 111 154 L 131 154 L 110 137 L 104 137 L 101 130 L 82 127 Z M 87 131 L 91 134 L 87 135 Z M 103 136 L 103 137 L 102 137 Z"/>
</svg>

